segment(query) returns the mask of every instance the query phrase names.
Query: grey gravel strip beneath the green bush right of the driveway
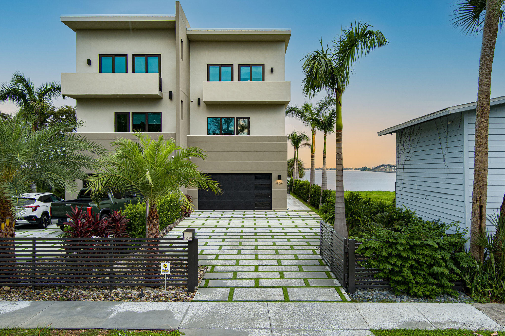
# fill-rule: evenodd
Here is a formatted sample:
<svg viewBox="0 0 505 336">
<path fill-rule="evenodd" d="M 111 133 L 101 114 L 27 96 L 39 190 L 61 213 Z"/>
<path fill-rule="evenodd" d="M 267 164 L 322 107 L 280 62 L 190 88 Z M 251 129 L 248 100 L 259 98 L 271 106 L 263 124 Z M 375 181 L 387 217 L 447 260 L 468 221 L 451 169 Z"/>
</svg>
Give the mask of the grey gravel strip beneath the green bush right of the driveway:
<svg viewBox="0 0 505 336">
<path fill-rule="evenodd" d="M 349 298 L 354 302 L 441 302 L 441 303 L 472 303 L 471 297 L 458 291 L 458 297 L 452 297 L 444 294 L 434 299 L 416 298 L 407 294 L 396 295 L 389 290 L 377 290 L 373 288 L 364 288 L 357 290 L 354 294 L 349 294 Z"/>
</svg>

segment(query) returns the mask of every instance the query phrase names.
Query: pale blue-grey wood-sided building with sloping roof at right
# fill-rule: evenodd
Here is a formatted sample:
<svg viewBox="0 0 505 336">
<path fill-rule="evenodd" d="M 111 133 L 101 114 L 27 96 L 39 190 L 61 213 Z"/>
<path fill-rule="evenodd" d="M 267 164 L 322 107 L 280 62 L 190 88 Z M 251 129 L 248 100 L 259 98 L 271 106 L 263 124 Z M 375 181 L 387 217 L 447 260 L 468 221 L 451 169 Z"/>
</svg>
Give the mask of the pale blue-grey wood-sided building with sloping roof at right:
<svg viewBox="0 0 505 336">
<path fill-rule="evenodd" d="M 505 192 L 505 96 L 490 105 L 488 214 L 499 209 Z M 397 207 L 470 227 L 475 108 L 475 102 L 452 106 L 378 132 L 396 133 Z"/>
</svg>

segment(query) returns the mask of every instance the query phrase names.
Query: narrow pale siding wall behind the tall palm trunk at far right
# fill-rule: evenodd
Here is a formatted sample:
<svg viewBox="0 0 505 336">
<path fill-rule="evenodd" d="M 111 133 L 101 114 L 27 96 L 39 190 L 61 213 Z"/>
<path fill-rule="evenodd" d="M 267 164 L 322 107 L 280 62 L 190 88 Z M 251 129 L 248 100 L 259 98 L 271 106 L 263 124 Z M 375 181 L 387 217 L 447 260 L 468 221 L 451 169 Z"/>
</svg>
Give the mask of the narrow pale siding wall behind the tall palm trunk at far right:
<svg viewBox="0 0 505 336">
<path fill-rule="evenodd" d="M 467 194 L 467 220 L 470 223 L 472 213 L 472 188 L 474 168 L 475 144 L 475 110 L 467 111 L 465 116 L 468 122 L 468 194 Z M 489 159 L 487 175 L 487 207 L 488 215 L 499 210 L 505 192 L 505 104 L 491 106 L 489 114 Z M 487 223 L 491 229 L 490 223 Z M 470 226 L 470 224 L 468 225 Z"/>
</svg>

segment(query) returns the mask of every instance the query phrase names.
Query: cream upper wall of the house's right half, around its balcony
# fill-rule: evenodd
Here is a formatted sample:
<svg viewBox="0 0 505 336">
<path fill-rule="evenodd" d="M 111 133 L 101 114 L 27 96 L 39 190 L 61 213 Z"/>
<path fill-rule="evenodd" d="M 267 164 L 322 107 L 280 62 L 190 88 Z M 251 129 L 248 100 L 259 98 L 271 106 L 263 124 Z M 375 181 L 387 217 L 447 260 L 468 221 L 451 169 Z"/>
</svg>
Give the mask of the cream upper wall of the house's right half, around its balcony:
<svg viewBox="0 0 505 336">
<path fill-rule="evenodd" d="M 233 64 L 234 81 L 238 81 L 238 64 L 265 64 L 265 81 L 283 82 L 284 47 L 283 41 L 192 41 L 190 134 L 206 136 L 207 117 L 219 116 L 250 117 L 250 135 L 283 136 L 285 104 L 206 104 L 203 87 L 207 64 Z"/>
</svg>

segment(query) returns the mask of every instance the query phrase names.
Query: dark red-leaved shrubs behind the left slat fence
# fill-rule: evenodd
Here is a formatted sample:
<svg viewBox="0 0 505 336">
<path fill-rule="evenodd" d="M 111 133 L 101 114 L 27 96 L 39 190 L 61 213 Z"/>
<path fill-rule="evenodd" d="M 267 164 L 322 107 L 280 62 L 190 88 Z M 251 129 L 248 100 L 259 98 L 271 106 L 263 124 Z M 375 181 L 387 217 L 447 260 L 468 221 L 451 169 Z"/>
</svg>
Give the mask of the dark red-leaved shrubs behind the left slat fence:
<svg viewBox="0 0 505 336">
<path fill-rule="evenodd" d="M 99 219 L 97 214 L 88 214 L 82 207 L 75 207 L 72 208 L 72 214 L 67 216 L 69 221 L 65 223 L 61 237 L 129 237 L 126 231 L 128 219 L 120 212 L 115 211 L 111 216 Z"/>
</svg>

